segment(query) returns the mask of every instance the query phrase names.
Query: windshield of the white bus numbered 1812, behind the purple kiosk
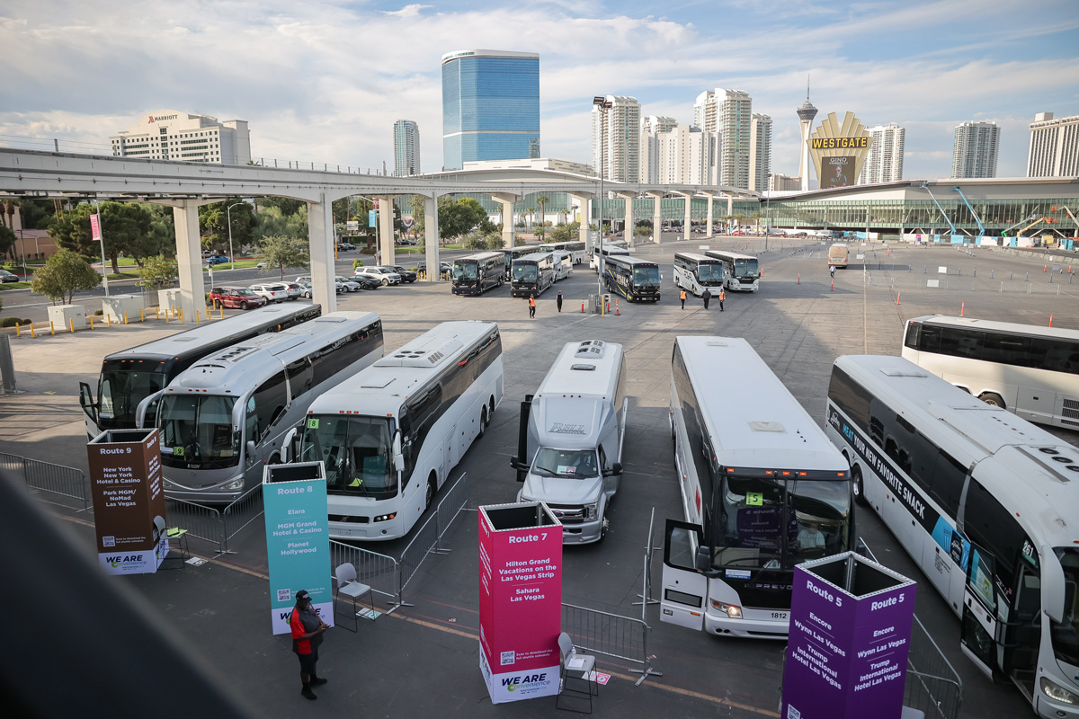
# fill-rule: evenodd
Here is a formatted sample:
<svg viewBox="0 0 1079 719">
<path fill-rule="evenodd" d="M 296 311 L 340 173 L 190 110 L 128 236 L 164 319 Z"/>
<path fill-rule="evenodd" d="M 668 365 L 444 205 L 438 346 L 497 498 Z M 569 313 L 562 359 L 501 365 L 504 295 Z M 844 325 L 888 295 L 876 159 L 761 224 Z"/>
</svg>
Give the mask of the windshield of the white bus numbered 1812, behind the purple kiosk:
<svg viewBox="0 0 1079 719">
<path fill-rule="evenodd" d="M 721 501 L 722 535 L 714 534 L 712 559 L 716 569 L 790 568 L 848 549 L 850 498 L 845 482 L 733 475 L 724 482 Z"/>
</svg>

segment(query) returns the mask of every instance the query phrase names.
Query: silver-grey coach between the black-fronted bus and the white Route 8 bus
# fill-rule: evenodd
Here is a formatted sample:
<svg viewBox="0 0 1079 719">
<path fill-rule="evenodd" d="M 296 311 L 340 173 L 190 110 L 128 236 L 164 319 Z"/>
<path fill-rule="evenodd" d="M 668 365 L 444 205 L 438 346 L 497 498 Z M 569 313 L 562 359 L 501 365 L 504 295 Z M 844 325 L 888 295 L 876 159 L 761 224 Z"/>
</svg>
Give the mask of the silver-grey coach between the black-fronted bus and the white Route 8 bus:
<svg viewBox="0 0 1079 719">
<path fill-rule="evenodd" d="M 318 395 L 382 357 L 374 313 L 336 312 L 203 358 L 139 405 L 160 403 L 165 495 L 228 502 L 288 457 L 285 438 Z"/>
</svg>

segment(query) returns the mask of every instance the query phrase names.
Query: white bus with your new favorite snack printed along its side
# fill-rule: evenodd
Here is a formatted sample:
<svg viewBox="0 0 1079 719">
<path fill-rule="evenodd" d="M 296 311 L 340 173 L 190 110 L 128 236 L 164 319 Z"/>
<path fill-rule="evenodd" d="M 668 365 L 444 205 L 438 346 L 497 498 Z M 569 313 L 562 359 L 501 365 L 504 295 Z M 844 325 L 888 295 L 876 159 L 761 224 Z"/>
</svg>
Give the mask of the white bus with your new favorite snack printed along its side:
<svg viewBox="0 0 1079 719">
<path fill-rule="evenodd" d="M 828 435 L 960 618 L 962 652 L 1039 716 L 1077 716 L 1079 447 L 901 357 L 835 360 Z"/>
</svg>

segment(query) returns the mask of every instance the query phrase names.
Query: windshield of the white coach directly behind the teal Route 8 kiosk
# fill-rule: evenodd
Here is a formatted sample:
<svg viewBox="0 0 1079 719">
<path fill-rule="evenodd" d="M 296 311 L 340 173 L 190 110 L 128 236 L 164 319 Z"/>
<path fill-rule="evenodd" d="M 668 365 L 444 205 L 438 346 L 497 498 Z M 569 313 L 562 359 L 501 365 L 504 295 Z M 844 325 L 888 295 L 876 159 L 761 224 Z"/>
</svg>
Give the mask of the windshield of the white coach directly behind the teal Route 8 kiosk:
<svg viewBox="0 0 1079 719">
<path fill-rule="evenodd" d="M 300 461 L 326 465 L 326 487 L 386 499 L 397 494 L 387 417 L 309 416 Z"/>
</svg>

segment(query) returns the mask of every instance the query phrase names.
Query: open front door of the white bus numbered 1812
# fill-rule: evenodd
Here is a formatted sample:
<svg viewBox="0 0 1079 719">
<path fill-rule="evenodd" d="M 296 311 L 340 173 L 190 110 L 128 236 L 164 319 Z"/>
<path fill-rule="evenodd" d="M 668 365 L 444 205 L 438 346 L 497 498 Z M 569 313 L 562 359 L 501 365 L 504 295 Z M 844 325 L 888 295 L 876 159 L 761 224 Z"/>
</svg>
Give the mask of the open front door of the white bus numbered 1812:
<svg viewBox="0 0 1079 719">
<path fill-rule="evenodd" d="M 700 631 L 705 627 L 708 578 L 697 571 L 700 526 L 667 520 L 659 619 Z"/>
</svg>

